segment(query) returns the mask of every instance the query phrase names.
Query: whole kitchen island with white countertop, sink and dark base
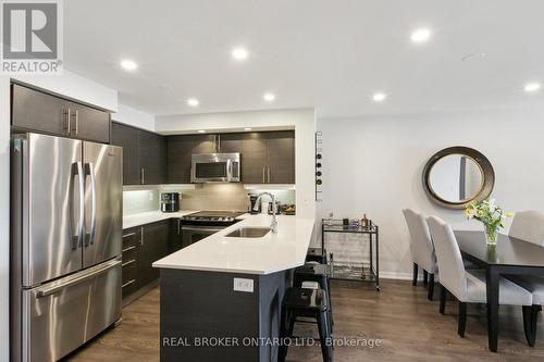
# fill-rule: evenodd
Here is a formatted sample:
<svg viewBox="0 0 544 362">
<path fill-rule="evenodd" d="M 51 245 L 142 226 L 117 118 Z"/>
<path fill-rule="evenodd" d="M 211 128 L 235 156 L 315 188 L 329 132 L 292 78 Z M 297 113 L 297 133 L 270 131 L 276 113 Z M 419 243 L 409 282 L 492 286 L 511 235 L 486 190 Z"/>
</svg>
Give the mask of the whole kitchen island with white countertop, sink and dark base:
<svg viewBox="0 0 544 362">
<path fill-rule="evenodd" d="M 161 270 L 161 361 L 276 361 L 280 305 L 290 271 L 305 263 L 314 220 L 269 215 L 242 221 L 153 263 Z"/>
</svg>

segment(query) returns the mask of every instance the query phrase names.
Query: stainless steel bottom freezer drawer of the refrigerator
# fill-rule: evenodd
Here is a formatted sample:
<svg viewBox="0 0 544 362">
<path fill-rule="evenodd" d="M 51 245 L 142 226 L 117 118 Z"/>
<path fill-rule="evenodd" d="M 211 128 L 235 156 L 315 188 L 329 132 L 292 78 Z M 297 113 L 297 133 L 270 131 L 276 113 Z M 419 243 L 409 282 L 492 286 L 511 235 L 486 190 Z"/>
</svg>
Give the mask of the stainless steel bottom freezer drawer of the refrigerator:
<svg viewBox="0 0 544 362">
<path fill-rule="evenodd" d="M 23 291 L 23 361 L 57 361 L 121 317 L 121 260 Z"/>
</svg>

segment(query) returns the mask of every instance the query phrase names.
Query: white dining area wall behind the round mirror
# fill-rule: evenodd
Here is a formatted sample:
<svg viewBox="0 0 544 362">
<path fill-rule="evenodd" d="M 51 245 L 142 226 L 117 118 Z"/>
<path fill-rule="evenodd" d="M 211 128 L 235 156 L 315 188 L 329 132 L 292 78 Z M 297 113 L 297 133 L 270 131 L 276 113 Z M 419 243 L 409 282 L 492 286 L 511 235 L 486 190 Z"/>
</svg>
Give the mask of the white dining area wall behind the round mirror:
<svg viewBox="0 0 544 362">
<path fill-rule="evenodd" d="M 323 201 L 318 217 L 363 212 L 381 229 L 381 270 L 409 277 L 403 208 L 436 214 L 454 228 L 481 228 L 432 203 L 421 185 L 428 159 L 450 146 L 475 148 L 495 168 L 493 197 L 507 211 L 544 212 L 544 110 L 318 120 L 323 132 Z M 482 241 L 483 242 L 483 241 Z"/>
</svg>

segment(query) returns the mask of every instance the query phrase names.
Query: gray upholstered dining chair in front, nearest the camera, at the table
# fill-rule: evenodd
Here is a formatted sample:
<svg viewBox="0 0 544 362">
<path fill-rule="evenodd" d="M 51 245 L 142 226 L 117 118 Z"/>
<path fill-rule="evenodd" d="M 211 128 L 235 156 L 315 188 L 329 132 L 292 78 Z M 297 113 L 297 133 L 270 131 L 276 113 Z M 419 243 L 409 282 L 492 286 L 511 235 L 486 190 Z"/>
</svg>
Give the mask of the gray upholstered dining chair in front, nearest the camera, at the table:
<svg viewBox="0 0 544 362">
<path fill-rule="evenodd" d="M 441 269 L 441 301 L 440 312 L 444 314 L 446 294 L 449 291 L 459 301 L 459 316 L 457 333 L 465 337 L 467 325 L 467 303 L 486 303 L 486 284 L 484 271 L 467 271 L 462 263 L 461 251 L 452 227 L 436 216 L 426 217 L 429 230 L 433 238 L 436 259 Z M 498 303 L 508 305 L 531 305 L 532 296 L 529 291 L 515 283 L 500 278 Z M 528 310 L 522 309 L 523 326 L 528 339 L 529 324 Z"/>
</svg>

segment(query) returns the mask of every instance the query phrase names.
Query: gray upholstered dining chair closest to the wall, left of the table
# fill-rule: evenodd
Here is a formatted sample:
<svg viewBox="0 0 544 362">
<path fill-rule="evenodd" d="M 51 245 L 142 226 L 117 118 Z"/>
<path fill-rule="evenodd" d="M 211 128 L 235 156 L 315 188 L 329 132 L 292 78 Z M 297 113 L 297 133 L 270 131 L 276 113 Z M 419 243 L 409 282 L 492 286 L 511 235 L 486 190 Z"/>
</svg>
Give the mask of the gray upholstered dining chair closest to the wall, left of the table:
<svg viewBox="0 0 544 362">
<path fill-rule="evenodd" d="M 426 298 L 433 300 L 436 257 L 431 234 L 429 234 L 429 226 L 425 217 L 420 213 L 411 209 L 404 209 L 403 213 L 410 234 L 410 251 L 413 260 L 412 285 L 418 285 L 419 267 L 421 267 L 423 270 L 423 284 L 429 285 Z"/>
</svg>

